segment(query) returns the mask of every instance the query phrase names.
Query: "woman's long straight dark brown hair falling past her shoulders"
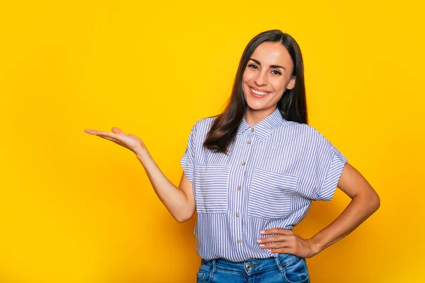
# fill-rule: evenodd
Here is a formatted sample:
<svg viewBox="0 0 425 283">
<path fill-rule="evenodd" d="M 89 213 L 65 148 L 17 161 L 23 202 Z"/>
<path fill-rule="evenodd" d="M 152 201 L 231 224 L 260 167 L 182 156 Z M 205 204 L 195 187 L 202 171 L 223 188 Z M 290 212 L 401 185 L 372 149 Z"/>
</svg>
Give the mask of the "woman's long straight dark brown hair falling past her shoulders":
<svg viewBox="0 0 425 283">
<path fill-rule="evenodd" d="M 278 109 L 285 120 L 307 124 L 307 102 L 305 98 L 304 65 L 302 54 L 297 42 L 280 30 L 268 30 L 256 35 L 246 45 L 242 58 L 237 68 L 236 78 L 232 88 L 232 95 L 225 110 L 217 115 L 212 127 L 207 134 L 203 146 L 212 151 L 220 151 L 227 154 L 227 149 L 237 132 L 239 123 L 244 117 L 246 101 L 242 88 L 242 76 L 246 64 L 251 58 L 256 47 L 263 42 L 280 42 L 288 50 L 293 60 L 294 68 L 292 76 L 295 76 L 295 88 L 286 89 L 282 98 L 278 101 Z"/>
</svg>

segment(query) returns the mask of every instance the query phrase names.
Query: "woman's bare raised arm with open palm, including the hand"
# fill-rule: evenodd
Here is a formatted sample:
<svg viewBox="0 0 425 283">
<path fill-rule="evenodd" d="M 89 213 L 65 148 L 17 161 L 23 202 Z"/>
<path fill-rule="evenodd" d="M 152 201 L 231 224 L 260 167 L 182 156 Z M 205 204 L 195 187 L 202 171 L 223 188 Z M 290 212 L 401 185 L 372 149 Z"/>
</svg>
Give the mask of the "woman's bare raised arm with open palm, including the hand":
<svg viewBox="0 0 425 283">
<path fill-rule="evenodd" d="M 101 132 L 94 129 L 86 129 L 84 132 L 108 139 L 134 152 L 137 159 L 142 163 L 143 168 L 145 168 L 159 200 L 162 201 L 174 219 L 184 222 L 192 218 L 196 209 L 195 198 L 193 197 L 192 183 L 188 180 L 185 173 L 181 176 L 179 187 L 176 187 L 159 169 L 154 158 L 147 151 L 142 139 L 134 134 L 125 134 L 125 132 L 116 127 L 112 128 L 112 132 Z"/>
</svg>

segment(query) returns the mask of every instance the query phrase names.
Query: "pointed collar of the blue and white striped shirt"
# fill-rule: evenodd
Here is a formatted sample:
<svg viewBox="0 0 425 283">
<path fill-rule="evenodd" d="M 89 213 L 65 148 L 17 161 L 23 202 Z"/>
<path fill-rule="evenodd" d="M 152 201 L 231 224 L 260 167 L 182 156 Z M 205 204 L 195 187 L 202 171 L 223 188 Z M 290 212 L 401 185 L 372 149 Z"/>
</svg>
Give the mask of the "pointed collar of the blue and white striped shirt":
<svg viewBox="0 0 425 283">
<path fill-rule="evenodd" d="M 252 127 L 248 125 L 245 118 L 242 118 L 236 134 L 239 135 L 246 131 L 251 131 L 254 132 L 254 134 L 256 134 L 256 136 L 259 137 L 261 141 L 264 141 L 268 138 L 268 136 L 270 136 L 276 127 L 282 125 L 284 121 L 285 120 L 280 114 L 279 109 L 276 108 L 276 110 L 274 110 L 271 115 L 268 115 L 266 118 L 256 123 L 256 125 Z"/>
</svg>

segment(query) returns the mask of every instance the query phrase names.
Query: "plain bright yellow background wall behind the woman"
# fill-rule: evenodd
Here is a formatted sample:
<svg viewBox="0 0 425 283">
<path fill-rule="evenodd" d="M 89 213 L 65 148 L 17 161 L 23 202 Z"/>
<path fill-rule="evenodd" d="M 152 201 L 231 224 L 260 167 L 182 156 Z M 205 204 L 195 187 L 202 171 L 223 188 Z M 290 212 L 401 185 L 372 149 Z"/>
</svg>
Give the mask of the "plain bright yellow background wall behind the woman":
<svg viewBox="0 0 425 283">
<path fill-rule="evenodd" d="M 301 46 L 310 124 L 382 202 L 307 260 L 312 282 L 425 280 L 421 1 L 177 2 L 1 2 L 0 282 L 195 282 L 195 219 L 174 221 L 134 154 L 84 129 L 137 134 L 178 184 L 191 127 L 273 28 Z M 315 203 L 295 231 L 348 201 Z"/>
</svg>

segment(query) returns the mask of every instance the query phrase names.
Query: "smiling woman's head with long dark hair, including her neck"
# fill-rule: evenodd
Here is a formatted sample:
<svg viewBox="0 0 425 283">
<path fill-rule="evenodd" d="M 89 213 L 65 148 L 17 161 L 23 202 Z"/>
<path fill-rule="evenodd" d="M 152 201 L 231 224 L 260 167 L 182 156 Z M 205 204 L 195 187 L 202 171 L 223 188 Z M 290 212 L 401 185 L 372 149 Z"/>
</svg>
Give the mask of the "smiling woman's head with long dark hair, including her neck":
<svg viewBox="0 0 425 283">
<path fill-rule="evenodd" d="M 270 30 L 246 46 L 229 105 L 214 121 L 205 146 L 227 152 L 242 117 L 254 125 L 276 108 L 285 120 L 307 123 L 300 47 L 287 33 Z"/>
</svg>

